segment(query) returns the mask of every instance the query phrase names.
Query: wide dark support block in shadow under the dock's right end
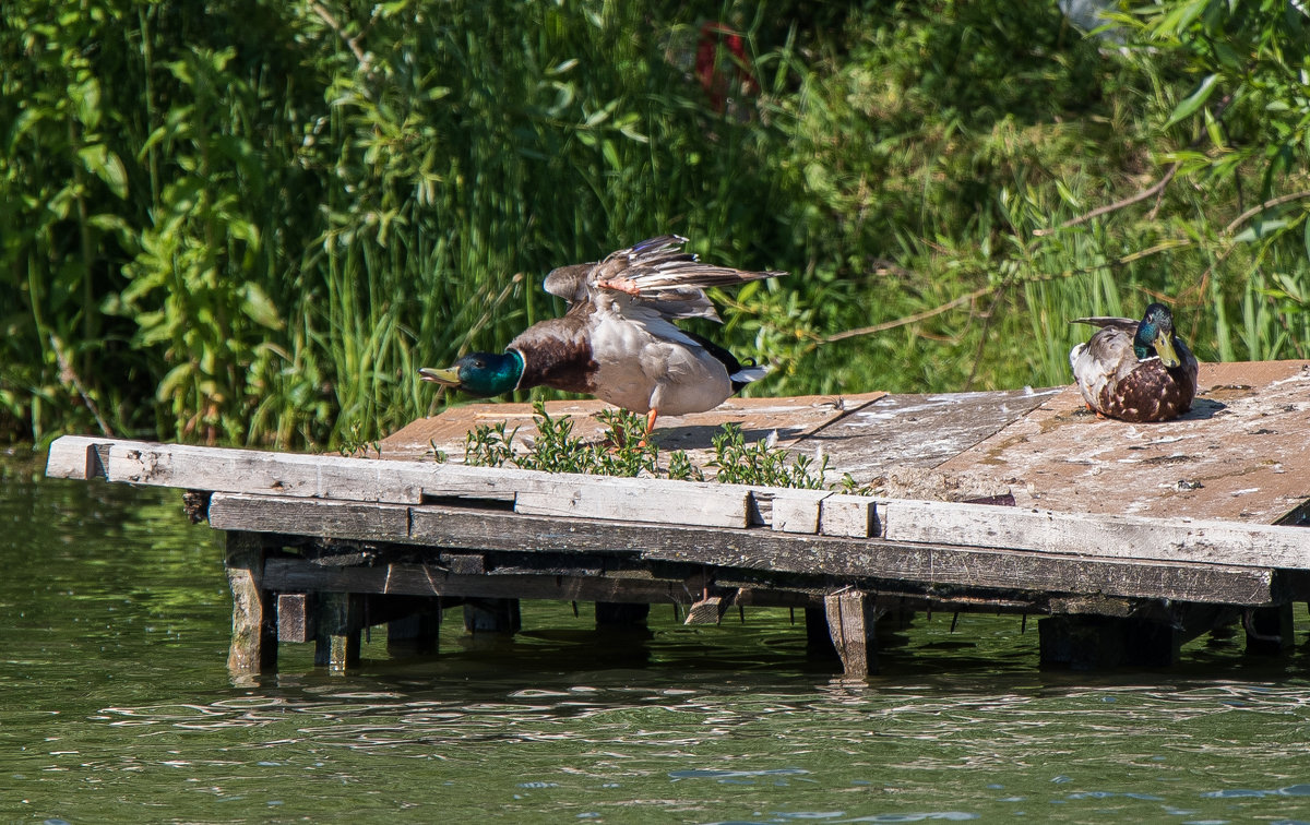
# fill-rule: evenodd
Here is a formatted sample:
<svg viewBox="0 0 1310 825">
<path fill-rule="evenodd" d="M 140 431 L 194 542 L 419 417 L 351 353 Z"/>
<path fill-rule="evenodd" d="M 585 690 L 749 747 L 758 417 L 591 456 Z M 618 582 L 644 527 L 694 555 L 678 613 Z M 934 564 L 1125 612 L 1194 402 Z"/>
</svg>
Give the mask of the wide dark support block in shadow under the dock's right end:
<svg viewBox="0 0 1310 825">
<path fill-rule="evenodd" d="M 1180 644 L 1171 623 L 1111 615 L 1052 615 L 1038 622 L 1038 632 L 1041 667 L 1076 670 L 1167 668 Z"/>
</svg>

